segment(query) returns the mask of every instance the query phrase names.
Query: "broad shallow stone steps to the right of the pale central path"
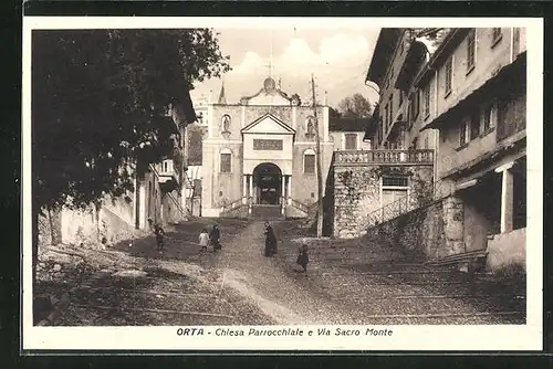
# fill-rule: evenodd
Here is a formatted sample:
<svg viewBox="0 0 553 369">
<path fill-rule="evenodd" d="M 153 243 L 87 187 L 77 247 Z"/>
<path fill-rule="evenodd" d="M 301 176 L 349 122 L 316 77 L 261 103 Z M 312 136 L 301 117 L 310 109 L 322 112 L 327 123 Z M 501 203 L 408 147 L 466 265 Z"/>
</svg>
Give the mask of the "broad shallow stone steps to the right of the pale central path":
<svg viewBox="0 0 553 369">
<path fill-rule="evenodd" d="M 428 265 L 366 241 L 307 243 L 310 287 L 351 306 L 365 324 L 525 323 L 524 283 L 484 273 L 469 277 L 450 265 Z M 292 272 L 299 267 L 298 246 L 285 242 L 279 256 L 292 275 L 302 276 Z"/>
</svg>

